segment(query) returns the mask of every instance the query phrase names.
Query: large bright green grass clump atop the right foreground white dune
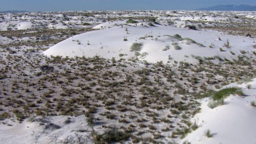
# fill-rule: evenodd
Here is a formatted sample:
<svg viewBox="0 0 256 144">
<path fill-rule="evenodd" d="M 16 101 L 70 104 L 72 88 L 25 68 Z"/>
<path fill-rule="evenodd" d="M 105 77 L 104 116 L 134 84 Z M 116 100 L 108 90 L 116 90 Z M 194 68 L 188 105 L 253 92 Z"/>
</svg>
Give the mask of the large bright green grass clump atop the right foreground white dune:
<svg viewBox="0 0 256 144">
<path fill-rule="evenodd" d="M 232 87 L 232 88 L 224 88 L 218 92 L 216 92 L 212 96 L 212 100 L 220 100 L 222 98 L 227 98 L 230 94 L 238 94 L 239 96 L 243 95 L 241 88 Z"/>
</svg>

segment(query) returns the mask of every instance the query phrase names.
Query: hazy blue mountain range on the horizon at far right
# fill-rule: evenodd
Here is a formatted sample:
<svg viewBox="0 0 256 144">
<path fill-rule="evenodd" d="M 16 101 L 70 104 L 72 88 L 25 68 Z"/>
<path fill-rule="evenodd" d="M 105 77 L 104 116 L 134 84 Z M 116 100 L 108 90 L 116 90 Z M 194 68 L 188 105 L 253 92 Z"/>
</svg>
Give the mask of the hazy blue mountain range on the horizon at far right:
<svg viewBox="0 0 256 144">
<path fill-rule="evenodd" d="M 220 10 L 220 11 L 256 11 L 256 6 L 244 5 L 217 5 L 208 8 L 199 8 L 196 10 Z"/>
</svg>

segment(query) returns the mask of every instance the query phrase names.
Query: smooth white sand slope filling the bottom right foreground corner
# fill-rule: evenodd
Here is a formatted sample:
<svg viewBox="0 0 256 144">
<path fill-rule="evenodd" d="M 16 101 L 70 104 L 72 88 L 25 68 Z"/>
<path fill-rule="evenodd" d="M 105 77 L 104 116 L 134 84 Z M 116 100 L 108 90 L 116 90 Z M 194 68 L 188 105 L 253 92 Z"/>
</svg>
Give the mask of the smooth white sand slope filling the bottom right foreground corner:
<svg viewBox="0 0 256 144">
<path fill-rule="evenodd" d="M 225 87 L 241 87 L 245 96 L 231 95 L 224 100 L 223 106 L 211 109 L 207 106 L 209 98 L 202 100 L 202 110 L 196 114 L 195 120 L 200 127 L 188 134 L 187 140 L 192 144 L 254 144 L 256 142 L 256 108 L 250 102 L 256 100 L 256 78 L 248 84 L 229 84 Z M 210 130 L 211 138 L 204 136 Z M 182 143 L 180 142 L 180 143 Z"/>
</svg>

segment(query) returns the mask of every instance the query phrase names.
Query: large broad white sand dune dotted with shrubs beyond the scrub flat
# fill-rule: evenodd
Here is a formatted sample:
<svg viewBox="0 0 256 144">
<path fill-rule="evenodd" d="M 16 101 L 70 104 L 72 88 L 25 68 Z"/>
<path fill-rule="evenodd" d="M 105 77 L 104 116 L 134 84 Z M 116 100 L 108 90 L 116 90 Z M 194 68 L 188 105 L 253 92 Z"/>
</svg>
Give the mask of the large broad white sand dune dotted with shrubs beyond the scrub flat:
<svg viewBox="0 0 256 144">
<path fill-rule="evenodd" d="M 106 23 L 106 26 L 109 24 Z M 104 26 L 104 24 L 100 24 Z M 126 32 L 127 29 L 127 32 Z M 205 47 L 198 46 L 196 44 L 190 44 L 186 40 L 178 41 L 175 38 L 165 35 L 179 34 L 182 38 L 191 38 L 192 40 L 203 44 Z M 139 40 L 140 37 L 153 36 Z M 221 41 L 217 40 L 218 36 L 221 37 Z M 128 41 L 124 41 L 124 38 Z M 225 48 L 223 45 L 229 40 L 230 48 Z M 81 44 L 78 44 L 78 42 Z M 181 50 L 174 50 L 174 46 L 171 45 L 172 41 L 177 42 L 181 47 Z M 148 62 L 163 61 L 168 62 L 168 56 L 170 55 L 173 60 L 176 61 L 188 61 L 197 62 L 191 55 L 200 57 L 220 57 L 228 60 L 237 59 L 238 55 L 241 55 L 240 50 L 248 52 L 248 55 L 252 55 L 252 38 L 244 38 L 239 36 L 224 35 L 221 32 L 216 31 L 204 31 L 204 30 L 188 30 L 186 28 L 173 28 L 168 26 L 116 26 L 114 28 L 108 28 L 104 30 L 96 30 L 92 32 L 86 32 L 84 34 L 76 35 L 67 40 L 64 40 L 44 52 L 47 56 L 85 56 L 93 57 L 100 56 L 101 58 L 111 59 L 112 57 L 119 59 L 119 54 L 125 54 L 122 58 L 130 59 L 135 58 L 134 52 L 130 51 L 130 46 L 134 42 L 142 42 L 143 48 L 140 51 L 148 53 L 145 58 L 140 60 L 146 60 Z M 89 44 L 89 45 L 88 45 Z M 170 49 L 163 51 L 165 46 L 169 46 Z M 212 48 L 208 46 L 213 45 Z M 224 51 L 220 52 L 219 48 Z M 230 52 L 234 52 L 234 55 Z M 186 57 L 184 57 L 186 56 Z M 187 57 L 189 56 L 189 57 Z M 218 62 L 218 59 L 215 60 Z"/>
</svg>

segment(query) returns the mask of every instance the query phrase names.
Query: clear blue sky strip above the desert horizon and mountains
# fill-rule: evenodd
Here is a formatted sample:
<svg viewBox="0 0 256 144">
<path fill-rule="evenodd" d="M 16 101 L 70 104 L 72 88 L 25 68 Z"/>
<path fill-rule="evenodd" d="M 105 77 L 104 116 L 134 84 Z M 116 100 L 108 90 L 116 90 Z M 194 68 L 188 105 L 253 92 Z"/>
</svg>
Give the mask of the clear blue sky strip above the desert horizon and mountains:
<svg viewBox="0 0 256 144">
<path fill-rule="evenodd" d="M 0 11 L 194 10 L 227 4 L 256 6 L 256 0 L 1 0 Z"/>
</svg>

